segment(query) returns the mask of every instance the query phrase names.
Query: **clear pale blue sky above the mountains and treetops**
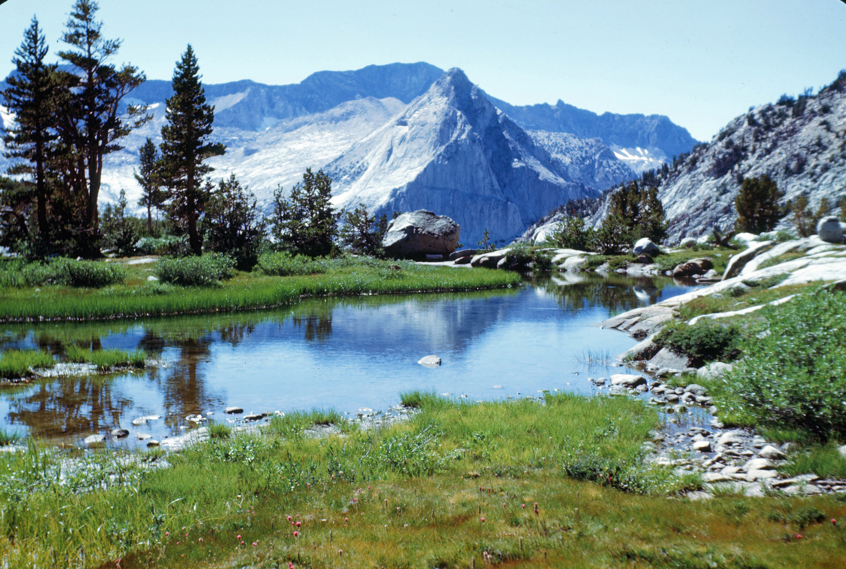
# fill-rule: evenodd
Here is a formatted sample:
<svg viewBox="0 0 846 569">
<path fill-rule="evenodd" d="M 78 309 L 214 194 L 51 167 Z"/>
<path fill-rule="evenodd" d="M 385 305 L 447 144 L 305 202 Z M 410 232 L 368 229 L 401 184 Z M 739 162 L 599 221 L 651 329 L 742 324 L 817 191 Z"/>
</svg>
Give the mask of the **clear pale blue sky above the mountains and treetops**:
<svg viewBox="0 0 846 569">
<path fill-rule="evenodd" d="M 6 63 L 33 14 L 52 51 L 71 0 L 0 4 Z M 315 71 L 426 61 L 514 105 L 665 114 L 709 140 L 748 107 L 846 68 L 840 0 L 222 2 L 101 0 L 118 61 L 170 79 L 193 44 L 207 83 L 296 83 Z M 11 69 L 11 63 L 7 63 Z M 0 74 L 5 74 L 0 67 Z"/>
</svg>

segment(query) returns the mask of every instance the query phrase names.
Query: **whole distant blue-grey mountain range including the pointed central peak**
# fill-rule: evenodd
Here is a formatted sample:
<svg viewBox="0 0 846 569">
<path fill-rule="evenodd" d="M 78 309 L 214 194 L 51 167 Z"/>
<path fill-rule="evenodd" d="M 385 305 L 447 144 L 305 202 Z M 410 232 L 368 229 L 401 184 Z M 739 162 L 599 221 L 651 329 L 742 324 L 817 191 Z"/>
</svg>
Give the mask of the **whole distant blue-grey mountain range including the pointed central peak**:
<svg viewBox="0 0 846 569">
<path fill-rule="evenodd" d="M 543 107 L 549 106 L 512 107 L 487 96 L 460 70 L 448 73 L 452 74 L 448 84 L 464 95 L 450 98 L 441 93 L 435 99 L 444 107 L 437 110 L 429 91 L 445 74 L 429 63 L 322 71 L 295 85 L 262 85 L 250 80 L 206 84 L 206 99 L 215 106 L 213 138 L 228 146 L 225 156 L 210 160 L 216 168 L 212 176 L 217 179 L 235 173 L 266 205 L 278 184 L 289 189 L 306 167 L 324 167 L 336 177 L 335 199 L 340 205 L 364 200 L 371 208 L 387 213 L 392 208 L 420 207 L 438 213 L 453 211 L 457 216 L 466 213 L 463 238 L 477 238 L 488 228 L 494 238 L 508 240 L 563 201 L 597 195 L 613 183 L 634 178 L 643 164 L 665 154 L 656 147 L 609 149 L 598 133 L 624 144 L 644 141 L 645 145 L 665 144 L 671 150 L 686 140 L 678 131 L 687 131 L 667 118 L 610 113 L 600 117 L 565 106 L 578 118 L 568 122 L 562 112 L 550 115 L 544 111 L 550 116 L 544 115 Z M 170 95 L 170 82 L 163 80 L 148 80 L 131 93 L 131 101 L 150 105 L 153 120 L 122 140 L 123 150 L 107 156 L 102 200 L 117 200 L 120 189 L 126 189 L 130 207 L 135 207 L 140 194 L 132 175 L 138 164 L 137 152 L 147 137 L 160 141 L 164 101 Z M 415 108 L 426 107 L 432 116 L 442 113 L 443 120 L 431 123 L 438 123 L 440 130 L 430 132 L 425 121 L 417 120 L 414 113 L 409 115 L 406 108 L 426 96 L 430 100 Z M 510 113 L 547 129 L 525 129 Z M 393 136 L 395 127 L 401 126 L 392 122 L 398 114 L 406 115 L 409 129 L 434 137 L 428 146 L 418 145 L 414 150 L 420 151 L 415 159 L 426 162 L 419 164 L 420 172 L 425 172 L 421 177 L 413 175 L 410 162 L 398 165 L 400 155 L 396 153 L 393 159 L 365 156 L 365 149 L 376 151 L 369 146 L 372 141 L 366 141 L 377 131 L 378 136 L 387 137 L 382 142 L 391 140 L 392 152 L 412 150 L 409 140 L 399 144 Z M 3 119 L 10 120 L 8 113 Z M 579 134 L 548 131 L 567 128 L 579 130 Z M 464 142 L 447 144 L 438 139 L 447 133 L 464 136 Z M 450 154 L 453 150 L 457 154 Z M 0 168 L 5 170 L 8 161 L 3 162 L 0 158 Z M 460 164 L 471 162 L 479 176 L 461 171 Z M 629 166 L 634 166 L 634 171 Z M 383 171 L 376 171 L 380 169 Z M 452 198 L 445 197 L 450 192 Z M 476 209 L 461 209 L 457 204 L 462 200 L 465 205 L 475 203 Z"/>
</svg>

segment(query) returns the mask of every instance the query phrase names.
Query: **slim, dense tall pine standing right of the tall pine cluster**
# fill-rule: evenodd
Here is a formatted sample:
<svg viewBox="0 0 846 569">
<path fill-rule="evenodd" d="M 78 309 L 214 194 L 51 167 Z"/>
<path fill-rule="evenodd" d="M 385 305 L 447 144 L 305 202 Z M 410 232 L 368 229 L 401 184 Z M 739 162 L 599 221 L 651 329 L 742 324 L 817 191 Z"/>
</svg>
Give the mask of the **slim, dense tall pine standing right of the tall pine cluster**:
<svg viewBox="0 0 846 569">
<path fill-rule="evenodd" d="M 171 216 L 184 222 L 193 254 L 202 254 L 203 241 L 198 221 L 206 201 L 201 180 L 214 168 L 203 162 L 222 156 L 226 146 L 209 140 L 214 107 L 206 104 L 206 90 L 200 82 L 200 67 L 194 49 L 188 46 L 173 71 L 173 96 L 166 101 L 162 127 L 162 181 L 169 190 Z M 207 183 L 207 185 L 210 183 Z"/>
</svg>

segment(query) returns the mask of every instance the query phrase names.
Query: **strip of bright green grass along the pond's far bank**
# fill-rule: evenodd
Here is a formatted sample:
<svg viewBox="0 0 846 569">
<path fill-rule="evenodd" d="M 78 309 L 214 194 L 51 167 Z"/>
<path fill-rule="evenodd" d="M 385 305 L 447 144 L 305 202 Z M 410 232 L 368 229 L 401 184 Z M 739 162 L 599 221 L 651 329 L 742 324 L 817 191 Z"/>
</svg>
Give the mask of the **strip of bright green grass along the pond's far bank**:
<svg viewBox="0 0 846 569">
<path fill-rule="evenodd" d="M 217 287 L 177 287 L 146 282 L 149 272 L 128 268 L 125 285 L 99 290 L 43 286 L 0 291 L 0 321 L 115 319 L 261 309 L 326 295 L 469 291 L 516 287 L 511 271 L 403 265 L 399 271 L 350 260 L 316 276 L 261 276 L 236 273 Z"/>
</svg>

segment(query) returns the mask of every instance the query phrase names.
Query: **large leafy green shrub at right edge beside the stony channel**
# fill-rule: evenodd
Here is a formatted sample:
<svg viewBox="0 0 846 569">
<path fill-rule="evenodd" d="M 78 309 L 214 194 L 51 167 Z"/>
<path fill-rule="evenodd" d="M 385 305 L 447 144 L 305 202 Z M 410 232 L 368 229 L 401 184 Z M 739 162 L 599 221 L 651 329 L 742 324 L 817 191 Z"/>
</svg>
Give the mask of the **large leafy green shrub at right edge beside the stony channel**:
<svg viewBox="0 0 846 569">
<path fill-rule="evenodd" d="M 846 436 L 843 293 L 801 294 L 765 310 L 766 322 L 743 342 L 747 357 L 724 376 L 718 406 L 821 440 Z"/>
</svg>

